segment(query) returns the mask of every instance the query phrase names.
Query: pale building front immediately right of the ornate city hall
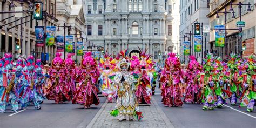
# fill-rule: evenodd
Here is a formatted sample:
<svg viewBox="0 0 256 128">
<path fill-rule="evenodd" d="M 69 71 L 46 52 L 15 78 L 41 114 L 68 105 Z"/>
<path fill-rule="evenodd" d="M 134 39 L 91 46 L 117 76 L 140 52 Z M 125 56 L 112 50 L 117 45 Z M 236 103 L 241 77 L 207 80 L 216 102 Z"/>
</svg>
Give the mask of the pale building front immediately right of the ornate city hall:
<svg viewBox="0 0 256 128">
<path fill-rule="evenodd" d="M 184 36 L 185 41 L 190 40 L 191 42 L 191 55 L 196 56 L 199 61 L 201 61 L 202 52 L 194 52 L 194 41 L 193 41 L 193 35 L 188 35 L 188 33 L 194 33 L 194 23 L 199 22 L 200 24 L 203 23 L 203 25 L 209 25 L 208 18 L 206 15 L 209 12 L 209 6 L 207 4 L 207 1 L 198 1 L 198 0 L 180 0 L 180 26 L 179 26 L 179 34 L 180 34 L 180 42 L 184 42 Z M 203 35 L 203 38 L 205 35 Z M 191 37 L 191 38 L 190 38 Z M 209 33 L 206 33 L 206 42 L 209 41 Z M 206 49 L 205 49 L 206 44 Z M 205 52 L 210 49 L 210 46 L 205 43 L 205 39 L 203 39 L 203 55 L 205 55 Z M 184 55 L 183 55 L 183 45 L 180 47 L 180 60 L 181 62 L 184 62 Z M 185 56 L 186 64 L 189 61 L 189 57 Z"/>
</svg>

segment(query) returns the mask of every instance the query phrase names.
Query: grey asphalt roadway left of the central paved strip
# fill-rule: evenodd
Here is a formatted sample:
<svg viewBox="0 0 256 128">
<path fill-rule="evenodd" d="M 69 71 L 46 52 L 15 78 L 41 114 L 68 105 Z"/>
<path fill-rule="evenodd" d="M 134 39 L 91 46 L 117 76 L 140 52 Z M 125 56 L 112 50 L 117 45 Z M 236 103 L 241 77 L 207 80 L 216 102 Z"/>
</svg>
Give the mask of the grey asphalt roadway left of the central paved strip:
<svg viewBox="0 0 256 128">
<path fill-rule="evenodd" d="M 41 110 L 29 106 L 26 110 L 13 114 L 10 106 L 6 113 L 0 113 L 0 127 L 77 127 L 80 123 L 89 124 L 106 98 L 99 97 L 100 104 L 92 105 L 91 109 L 84 109 L 83 105 L 64 102 L 55 104 L 45 100 Z"/>
</svg>

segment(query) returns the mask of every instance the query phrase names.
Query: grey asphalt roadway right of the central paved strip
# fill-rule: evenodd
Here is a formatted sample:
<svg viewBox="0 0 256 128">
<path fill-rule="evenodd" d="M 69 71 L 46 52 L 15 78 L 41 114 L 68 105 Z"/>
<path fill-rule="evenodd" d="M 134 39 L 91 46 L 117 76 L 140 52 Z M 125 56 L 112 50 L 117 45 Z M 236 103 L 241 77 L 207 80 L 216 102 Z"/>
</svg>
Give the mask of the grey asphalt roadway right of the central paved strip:
<svg viewBox="0 0 256 128">
<path fill-rule="evenodd" d="M 174 127 L 232 127 L 232 128 L 254 128 L 256 127 L 256 112 L 247 112 L 246 107 L 238 108 L 231 106 L 229 101 L 223 108 L 204 111 L 203 104 L 184 103 L 182 107 L 165 107 L 161 102 L 160 91 L 157 89 L 158 95 L 153 96 L 157 100 L 158 105 L 169 118 Z M 231 109 L 239 110 L 252 117 Z M 253 118 L 254 117 L 254 118 Z"/>
</svg>

